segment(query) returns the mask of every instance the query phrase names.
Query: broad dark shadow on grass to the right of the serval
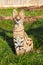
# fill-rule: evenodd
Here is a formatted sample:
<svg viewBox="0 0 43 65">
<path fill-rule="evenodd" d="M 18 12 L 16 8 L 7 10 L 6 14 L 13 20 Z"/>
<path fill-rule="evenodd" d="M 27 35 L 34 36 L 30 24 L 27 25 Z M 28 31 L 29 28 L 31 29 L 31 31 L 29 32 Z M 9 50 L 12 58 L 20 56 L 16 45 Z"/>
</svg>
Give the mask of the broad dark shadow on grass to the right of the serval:
<svg viewBox="0 0 43 65">
<path fill-rule="evenodd" d="M 37 42 L 35 42 L 37 48 L 43 47 L 43 26 L 28 29 L 26 33 L 28 35 L 32 35 L 35 38 L 35 40 L 37 39 Z"/>
</svg>

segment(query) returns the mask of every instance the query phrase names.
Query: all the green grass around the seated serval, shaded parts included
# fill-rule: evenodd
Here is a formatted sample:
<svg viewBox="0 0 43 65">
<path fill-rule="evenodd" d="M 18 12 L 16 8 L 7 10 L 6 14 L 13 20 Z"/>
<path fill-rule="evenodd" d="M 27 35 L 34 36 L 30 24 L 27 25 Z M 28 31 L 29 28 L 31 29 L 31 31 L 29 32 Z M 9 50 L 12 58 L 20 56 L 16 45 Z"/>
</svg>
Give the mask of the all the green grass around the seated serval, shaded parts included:
<svg viewBox="0 0 43 65">
<path fill-rule="evenodd" d="M 13 9 L 0 9 L 0 15 L 10 16 L 12 12 Z M 43 11 L 34 11 L 32 14 L 31 12 L 25 11 L 25 15 L 43 15 Z M 33 52 L 25 55 L 15 55 L 13 26 L 11 20 L 0 21 L 0 65 L 43 65 L 43 19 L 31 24 L 24 23 L 26 33 L 34 42 Z"/>
</svg>

